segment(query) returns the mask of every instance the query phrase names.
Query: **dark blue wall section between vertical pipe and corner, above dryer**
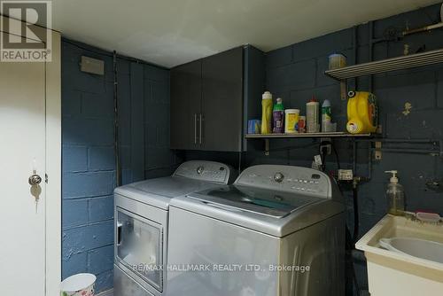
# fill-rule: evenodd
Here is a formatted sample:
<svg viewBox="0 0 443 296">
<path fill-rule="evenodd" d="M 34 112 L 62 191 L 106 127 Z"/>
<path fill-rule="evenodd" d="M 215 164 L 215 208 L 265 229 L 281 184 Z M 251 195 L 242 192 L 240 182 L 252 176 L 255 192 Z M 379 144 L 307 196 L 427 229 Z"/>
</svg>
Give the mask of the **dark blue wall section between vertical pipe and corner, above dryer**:
<svg viewBox="0 0 443 296">
<path fill-rule="evenodd" d="M 122 184 L 171 175 L 169 70 L 119 60 L 118 83 Z"/>
</svg>

